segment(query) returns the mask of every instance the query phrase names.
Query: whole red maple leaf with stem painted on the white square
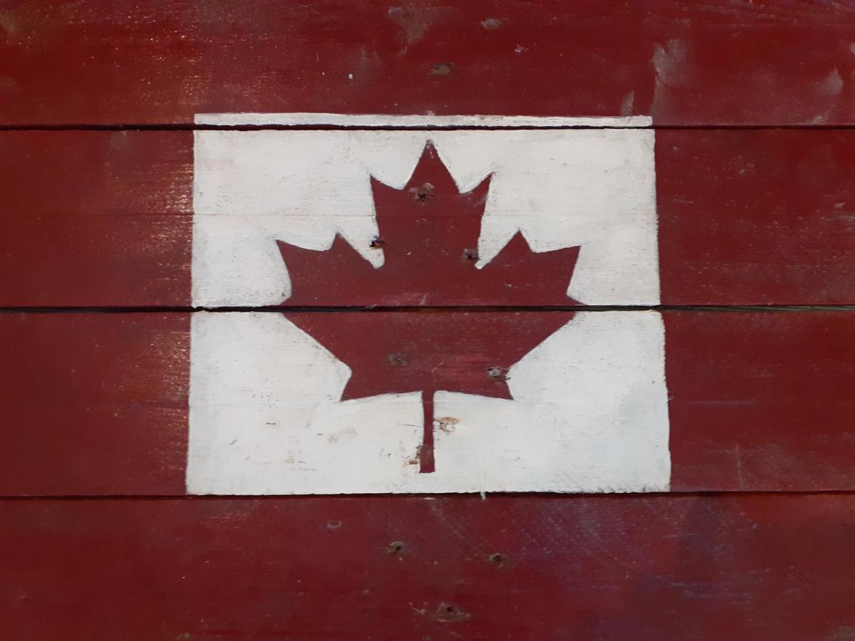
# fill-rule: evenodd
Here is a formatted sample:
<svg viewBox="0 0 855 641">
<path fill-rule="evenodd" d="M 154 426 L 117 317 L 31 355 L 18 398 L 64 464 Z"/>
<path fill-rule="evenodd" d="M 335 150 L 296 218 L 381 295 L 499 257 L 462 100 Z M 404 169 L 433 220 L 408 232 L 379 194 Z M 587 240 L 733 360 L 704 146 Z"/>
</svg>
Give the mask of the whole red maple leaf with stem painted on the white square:
<svg viewBox="0 0 855 641">
<path fill-rule="evenodd" d="M 292 284 L 284 304 L 404 306 L 287 317 L 351 368 L 342 400 L 422 391 L 421 472 L 435 465 L 434 392 L 511 398 L 510 366 L 573 317 L 566 310 L 454 307 L 575 303 L 566 291 L 578 247 L 537 253 L 517 232 L 491 262 L 475 267 L 490 179 L 459 193 L 430 143 L 403 190 L 372 177 L 380 234 L 371 246 L 383 251 L 380 268 L 340 235 L 326 251 L 279 242 Z"/>
</svg>

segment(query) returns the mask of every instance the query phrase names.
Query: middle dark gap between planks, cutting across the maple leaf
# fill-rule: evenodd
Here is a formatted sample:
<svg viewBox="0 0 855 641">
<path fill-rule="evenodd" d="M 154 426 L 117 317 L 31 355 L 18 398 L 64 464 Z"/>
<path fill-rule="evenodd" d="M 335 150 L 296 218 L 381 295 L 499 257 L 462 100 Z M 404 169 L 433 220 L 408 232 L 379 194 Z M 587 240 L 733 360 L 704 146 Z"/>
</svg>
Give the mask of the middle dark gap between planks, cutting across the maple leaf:
<svg viewBox="0 0 855 641">
<path fill-rule="evenodd" d="M 855 305 L 542 305 L 542 306 L 501 306 L 501 305 L 436 305 L 424 307 L 408 306 L 351 306 L 351 307 L 190 307 L 190 306 L 149 306 L 149 307 L 5 307 L 0 308 L 0 314 L 196 314 L 198 312 L 214 312 L 245 314 L 260 312 L 266 314 L 282 313 L 319 313 L 340 314 L 361 312 L 401 312 L 404 314 L 435 313 L 435 312 L 823 312 L 823 311 L 855 311 Z"/>
</svg>

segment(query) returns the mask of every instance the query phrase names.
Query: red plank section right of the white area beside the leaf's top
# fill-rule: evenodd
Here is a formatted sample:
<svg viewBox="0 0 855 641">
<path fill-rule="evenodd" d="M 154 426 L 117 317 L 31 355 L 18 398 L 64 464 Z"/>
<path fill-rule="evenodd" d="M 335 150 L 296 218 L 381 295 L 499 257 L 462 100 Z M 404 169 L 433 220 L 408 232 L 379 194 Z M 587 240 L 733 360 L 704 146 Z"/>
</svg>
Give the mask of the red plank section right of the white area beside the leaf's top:
<svg viewBox="0 0 855 641">
<path fill-rule="evenodd" d="M 663 303 L 855 300 L 855 132 L 657 132 Z"/>
</svg>

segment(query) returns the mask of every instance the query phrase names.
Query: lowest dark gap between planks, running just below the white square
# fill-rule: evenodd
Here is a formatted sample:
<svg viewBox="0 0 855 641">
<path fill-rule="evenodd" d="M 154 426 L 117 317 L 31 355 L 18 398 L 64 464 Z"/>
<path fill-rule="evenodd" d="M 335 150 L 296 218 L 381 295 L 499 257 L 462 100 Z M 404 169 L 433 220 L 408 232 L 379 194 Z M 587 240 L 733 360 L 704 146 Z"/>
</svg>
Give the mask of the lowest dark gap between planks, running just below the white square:
<svg viewBox="0 0 855 641">
<path fill-rule="evenodd" d="M 371 494 L 62 494 L 62 495 L 0 495 L 0 501 L 222 501 L 222 500 L 253 500 L 273 501 L 291 500 L 297 501 L 306 498 L 352 498 L 359 500 L 388 500 L 391 497 L 421 498 L 424 501 L 436 501 L 444 498 L 477 498 L 489 501 L 491 497 L 511 498 L 540 498 L 544 500 L 566 500 L 566 499 L 599 499 L 604 501 L 620 500 L 622 498 L 669 498 L 669 497 L 746 497 L 746 496 L 787 496 L 787 497 L 814 497 L 852 495 L 855 490 L 676 490 L 657 492 L 554 492 L 554 491 L 523 491 L 523 492 L 441 492 L 438 494 L 428 493 L 404 493 L 386 492 Z"/>
</svg>

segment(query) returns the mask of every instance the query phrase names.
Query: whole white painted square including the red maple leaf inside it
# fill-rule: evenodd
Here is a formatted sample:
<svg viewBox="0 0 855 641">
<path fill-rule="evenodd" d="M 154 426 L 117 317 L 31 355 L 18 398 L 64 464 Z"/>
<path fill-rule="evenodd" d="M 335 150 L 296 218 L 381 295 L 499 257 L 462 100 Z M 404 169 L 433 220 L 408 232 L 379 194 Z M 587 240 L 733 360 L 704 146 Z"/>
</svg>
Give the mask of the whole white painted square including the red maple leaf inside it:
<svg viewBox="0 0 855 641">
<path fill-rule="evenodd" d="M 669 488 L 648 119 L 197 122 L 188 491 Z"/>
</svg>

